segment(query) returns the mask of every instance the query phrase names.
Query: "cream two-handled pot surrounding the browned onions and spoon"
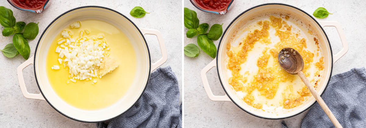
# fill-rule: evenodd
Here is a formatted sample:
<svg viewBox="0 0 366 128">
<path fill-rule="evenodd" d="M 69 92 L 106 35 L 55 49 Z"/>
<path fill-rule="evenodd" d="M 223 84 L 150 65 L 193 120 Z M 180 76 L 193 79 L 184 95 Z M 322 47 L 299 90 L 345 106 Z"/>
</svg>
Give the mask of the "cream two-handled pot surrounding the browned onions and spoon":
<svg viewBox="0 0 366 128">
<path fill-rule="evenodd" d="M 256 16 L 261 14 L 273 14 L 273 13 L 281 13 L 291 15 L 292 17 L 301 20 L 305 25 L 310 25 L 311 29 L 313 30 L 314 34 L 318 35 L 319 45 L 321 46 L 321 50 L 324 54 L 324 74 L 318 84 L 317 91 L 318 93 L 322 94 L 325 91 L 326 86 L 329 83 L 330 76 L 332 75 L 332 68 L 333 63 L 335 63 L 340 57 L 346 54 L 348 50 L 348 45 L 346 42 L 346 37 L 340 27 L 338 22 L 334 21 L 316 21 L 313 17 L 307 14 L 305 11 L 300 10 L 291 5 L 281 4 L 281 3 L 268 3 L 268 4 L 261 4 L 255 7 L 252 7 L 242 14 L 237 16 L 227 27 L 223 36 L 221 37 L 216 59 L 209 63 L 205 68 L 201 71 L 201 78 L 203 81 L 203 87 L 208 95 L 208 97 L 212 101 L 232 101 L 234 102 L 240 109 L 244 110 L 245 112 L 252 114 L 254 116 L 266 119 L 282 119 L 295 116 L 299 113 L 304 112 L 306 109 L 310 108 L 314 103 L 314 97 L 309 98 L 305 103 L 302 105 L 292 108 L 292 109 L 274 109 L 271 112 L 258 110 L 253 108 L 252 106 L 247 105 L 242 99 L 238 98 L 235 95 L 234 89 L 228 83 L 229 76 L 227 75 L 228 69 L 226 68 L 226 46 L 229 42 L 230 37 L 238 30 L 238 27 L 245 24 L 246 21 L 253 19 Z M 330 42 L 328 37 L 325 34 L 325 31 L 322 27 L 324 26 L 334 26 L 336 27 L 339 37 L 341 39 L 343 48 L 337 54 L 332 53 L 332 49 L 330 47 Z M 217 67 L 217 74 L 219 75 L 219 79 L 221 85 L 224 88 L 225 95 L 214 95 L 210 89 L 208 84 L 208 80 L 206 77 L 206 73 L 213 67 Z"/>
</svg>

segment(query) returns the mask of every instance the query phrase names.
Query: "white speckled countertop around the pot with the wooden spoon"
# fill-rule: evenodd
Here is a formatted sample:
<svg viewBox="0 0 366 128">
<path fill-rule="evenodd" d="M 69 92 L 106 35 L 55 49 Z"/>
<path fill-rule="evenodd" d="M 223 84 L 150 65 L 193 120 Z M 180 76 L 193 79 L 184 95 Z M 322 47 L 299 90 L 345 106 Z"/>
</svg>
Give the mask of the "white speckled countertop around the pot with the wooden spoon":
<svg viewBox="0 0 366 128">
<path fill-rule="evenodd" d="M 234 0 L 229 12 L 225 15 L 211 14 L 202 12 L 195 8 L 189 0 L 184 0 L 184 7 L 197 12 L 197 17 L 200 23 L 208 23 L 210 26 L 215 23 L 224 23 L 225 30 L 229 23 L 243 11 L 259 4 L 264 3 L 285 3 L 294 5 L 309 14 L 313 14 L 318 7 L 325 7 L 333 15 L 329 15 L 325 19 L 317 20 L 334 20 L 339 22 L 349 45 L 349 50 L 333 65 L 333 75 L 346 72 L 351 68 L 360 68 L 366 66 L 366 2 L 362 0 L 339 1 L 339 0 Z M 184 36 L 187 31 L 184 28 Z M 342 45 L 338 33 L 334 27 L 325 27 L 325 32 L 329 37 L 332 45 L 333 53 L 337 53 Z M 197 37 L 184 37 L 184 46 L 187 44 L 196 44 Z M 214 41 L 216 46 L 219 40 Z M 217 128 L 280 128 L 282 120 L 267 120 L 258 118 L 244 112 L 232 102 L 214 102 L 211 101 L 202 86 L 200 71 L 213 59 L 202 50 L 198 57 L 191 58 L 184 56 L 184 127 L 217 127 Z M 224 95 L 225 92 L 221 87 L 217 76 L 216 68 L 211 69 L 208 73 L 208 80 L 213 94 Z M 299 128 L 302 118 L 307 111 L 284 119 L 290 128 Z"/>
</svg>

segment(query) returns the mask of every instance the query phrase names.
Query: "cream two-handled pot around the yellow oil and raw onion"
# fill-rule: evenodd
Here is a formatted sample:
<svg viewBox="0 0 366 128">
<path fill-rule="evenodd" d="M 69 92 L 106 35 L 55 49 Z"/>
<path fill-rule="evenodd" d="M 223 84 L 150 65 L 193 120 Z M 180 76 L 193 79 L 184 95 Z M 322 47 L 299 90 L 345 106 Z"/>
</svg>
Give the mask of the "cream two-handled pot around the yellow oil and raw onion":
<svg viewBox="0 0 366 128">
<path fill-rule="evenodd" d="M 130 39 L 137 55 L 138 68 L 133 85 L 131 85 L 127 93 L 119 101 L 107 108 L 100 110 L 82 110 L 67 104 L 57 96 L 55 91 L 53 91 L 46 75 L 46 56 L 53 39 L 57 34 L 59 34 L 60 31 L 62 31 L 72 22 L 85 19 L 102 20 L 123 31 L 124 34 L 126 34 Z M 156 35 L 158 39 L 162 58 L 156 63 L 151 63 L 149 48 L 144 38 L 145 34 Z M 30 57 L 23 64 L 19 65 L 17 74 L 19 86 L 24 97 L 29 99 L 45 100 L 55 110 L 57 110 L 57 112 L 73 120 L 95 123 L 111 120 L 112 118 L 117 117 L 130 109 L 145 91 L 147 82 L 149 82 L 150 73 L 165 63 L 165 61 L 167 61 L 167 50 L 165 49 L 163 37 L 158 30 L 139 29 L 126 16 L 109 8 L 99 6 L 85 6 L 67 11 L 53 20 L 42 33 L 34 56 Z M 22 70 L 30 64 L 34 65 L 34 75 L 36 76 L 38 88 L 41 91 L 40 94 L 28 93 L 26 89 Z"/>
</svg>

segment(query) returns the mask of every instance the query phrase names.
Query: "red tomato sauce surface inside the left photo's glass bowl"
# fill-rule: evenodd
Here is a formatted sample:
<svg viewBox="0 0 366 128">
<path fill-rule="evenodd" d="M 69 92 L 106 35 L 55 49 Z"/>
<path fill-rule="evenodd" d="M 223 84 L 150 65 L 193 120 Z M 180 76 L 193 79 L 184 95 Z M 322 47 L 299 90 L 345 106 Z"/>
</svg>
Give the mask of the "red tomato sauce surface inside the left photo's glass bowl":
<svg viewBox="0 0 366 128">
<path fill-rule="evenodd" d="M 37 9 L 43 7 L 47 0 L 11 0 L 13 3 L 24 9 Z"/>
</svg>

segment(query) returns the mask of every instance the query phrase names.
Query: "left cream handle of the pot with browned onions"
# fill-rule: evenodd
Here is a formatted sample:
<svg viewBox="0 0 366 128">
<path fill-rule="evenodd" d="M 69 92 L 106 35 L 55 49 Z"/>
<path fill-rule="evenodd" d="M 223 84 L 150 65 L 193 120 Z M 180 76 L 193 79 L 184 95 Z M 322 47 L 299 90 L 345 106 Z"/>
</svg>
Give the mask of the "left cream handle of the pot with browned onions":
<svg viewBox="0 0 366 128">
<path fill-rule="evenodd" d="M 201 70 L 201 79 L 203 82 L 203 87 L 206 90 L 208 98 L 210 98 L 212 101 L 231 101 L 227 94 L 225 95 L 214 95 L 212 93 L 212 90 L 208 84 L 206 73 L 213 67 L 216 67 L 216 59 L 212 60 L 205 68 Z"/>
</svg>

